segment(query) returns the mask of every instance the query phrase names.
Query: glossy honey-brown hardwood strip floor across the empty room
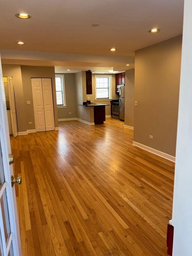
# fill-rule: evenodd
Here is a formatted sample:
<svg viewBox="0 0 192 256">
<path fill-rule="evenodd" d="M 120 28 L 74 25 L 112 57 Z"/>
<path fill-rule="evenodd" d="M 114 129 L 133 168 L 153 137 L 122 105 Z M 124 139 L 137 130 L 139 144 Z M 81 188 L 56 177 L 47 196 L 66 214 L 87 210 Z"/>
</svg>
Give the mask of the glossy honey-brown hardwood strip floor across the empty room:
<svg viewBox="0 0 192 256">
<path fill-rule="evenodd" d="M 174 163 L 133 146 L 123 125 L 11 137 L 24 256 L 167 255 Z"/>
</svg>

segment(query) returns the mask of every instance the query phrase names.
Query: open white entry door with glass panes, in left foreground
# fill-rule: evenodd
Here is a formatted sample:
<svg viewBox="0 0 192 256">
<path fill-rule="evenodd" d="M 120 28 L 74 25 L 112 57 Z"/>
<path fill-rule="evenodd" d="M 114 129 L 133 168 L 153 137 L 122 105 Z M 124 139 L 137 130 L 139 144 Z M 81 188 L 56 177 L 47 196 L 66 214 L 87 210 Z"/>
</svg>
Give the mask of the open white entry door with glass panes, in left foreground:
<svg viewBox="0 0 192 256">
<path fill-rule="evenodd" d="M 6 100 L 0 62 L 0 255 L 22 255 L 15 187 L 11 186 L 13 167 Z"/>
</svg>

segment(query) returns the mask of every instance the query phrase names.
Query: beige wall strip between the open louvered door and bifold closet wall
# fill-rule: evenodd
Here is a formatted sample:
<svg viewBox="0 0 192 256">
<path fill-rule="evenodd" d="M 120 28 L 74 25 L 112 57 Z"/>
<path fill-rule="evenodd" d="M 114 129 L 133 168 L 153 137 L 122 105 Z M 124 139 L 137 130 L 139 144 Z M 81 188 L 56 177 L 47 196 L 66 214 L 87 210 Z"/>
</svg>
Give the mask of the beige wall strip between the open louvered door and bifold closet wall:
<svg viewBox="0 0 192 256">
<path fill-rule="evenodd" d="M 21 66 L 2 64 L 2 72 L 4 77 L 13 77 L 18 132 L 24 132 L 27 130 L 27 127 L 24 104 L 24 92 L 21 77 Z"/>
</svg>

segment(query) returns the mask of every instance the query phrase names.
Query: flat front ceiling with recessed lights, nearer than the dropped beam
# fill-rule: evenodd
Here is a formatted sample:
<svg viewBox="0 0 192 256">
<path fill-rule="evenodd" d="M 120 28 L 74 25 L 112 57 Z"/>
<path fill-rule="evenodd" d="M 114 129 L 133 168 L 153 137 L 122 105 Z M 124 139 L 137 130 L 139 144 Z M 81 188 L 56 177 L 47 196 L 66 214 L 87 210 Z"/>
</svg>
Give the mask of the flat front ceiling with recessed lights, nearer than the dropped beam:
<svg viewBox="0 0 192 256">
<path fill-rule="evenodd" d="M 18 19 L 19 12 L 32 18 Z M 182 34 L 183 0 L 6 0 L 0 24 L 0 49 L 134 56 Z M 160 32 L 148 33 L 151 28 Z"/>
</svg>

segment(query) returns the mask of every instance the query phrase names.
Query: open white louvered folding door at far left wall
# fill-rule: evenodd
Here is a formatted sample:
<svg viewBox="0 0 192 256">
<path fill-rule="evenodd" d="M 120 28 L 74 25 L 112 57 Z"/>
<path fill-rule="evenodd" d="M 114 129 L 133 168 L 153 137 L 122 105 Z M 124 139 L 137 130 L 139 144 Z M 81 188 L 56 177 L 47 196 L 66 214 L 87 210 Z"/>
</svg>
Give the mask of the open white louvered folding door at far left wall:
<svg viewBox="0 0 192 256">
<path fill-rule="evenodd" d="M 17 113 L 16 113 L 16 107 L 15 107 L 13 77 L 7 77 L 7 85 L 8 85 L 8 93 L 9 93 L 9 105 L 10 105 L 13 137 L 16 137 L 18 135 L 18 129 L 17 129 Z"/>
</svg>

